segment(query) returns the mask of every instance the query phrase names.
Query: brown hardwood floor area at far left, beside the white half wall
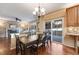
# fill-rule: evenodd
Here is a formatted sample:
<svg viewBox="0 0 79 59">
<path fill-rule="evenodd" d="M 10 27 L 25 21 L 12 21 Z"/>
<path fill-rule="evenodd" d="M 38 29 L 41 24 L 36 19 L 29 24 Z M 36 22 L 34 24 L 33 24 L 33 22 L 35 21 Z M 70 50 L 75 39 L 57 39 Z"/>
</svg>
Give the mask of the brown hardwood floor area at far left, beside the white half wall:
<svg viewBox="0 0 79 59">
<path fill-rule="evenodd" d="M 0 39 L 0 55 L 8 55 L 10 54 L 10 42 L 7 39 Z"/>
</svg>

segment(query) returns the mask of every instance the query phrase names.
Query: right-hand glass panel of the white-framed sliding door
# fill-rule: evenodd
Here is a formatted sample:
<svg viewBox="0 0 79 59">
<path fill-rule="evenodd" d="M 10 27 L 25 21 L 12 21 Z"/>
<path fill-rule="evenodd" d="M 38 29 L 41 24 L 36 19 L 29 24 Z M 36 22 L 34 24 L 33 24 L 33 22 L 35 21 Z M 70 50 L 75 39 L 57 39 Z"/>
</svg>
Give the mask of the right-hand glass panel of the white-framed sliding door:
<svg viewBox="0 0 79 59">
<path fill-rule="evenodd" d="M 52 40 L 54 42 L 63 43 L 63 18 L 58 18 L 52 21 Z"/>
</svg>

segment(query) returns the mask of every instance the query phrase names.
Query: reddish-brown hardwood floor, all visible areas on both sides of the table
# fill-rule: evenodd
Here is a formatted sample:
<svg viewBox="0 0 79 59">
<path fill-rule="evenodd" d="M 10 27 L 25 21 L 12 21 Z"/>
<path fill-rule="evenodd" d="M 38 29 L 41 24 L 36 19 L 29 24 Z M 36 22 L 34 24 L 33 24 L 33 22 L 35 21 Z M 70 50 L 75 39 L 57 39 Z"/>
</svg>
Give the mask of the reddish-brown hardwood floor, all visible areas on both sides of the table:
<svg viewBox="0 0 79 59">
<path fill-rule="evenodd" d="M 9 50 L 6 40 L 0 41 L 0 55 L 15 55 L 16 50 Z M 31 54 L 32 55 L 32 54 Z M 58 43 L 49 43 L 49 46 L 38 49 L 38 55 L 75 55 L 75 50 Z"/>
</svg>

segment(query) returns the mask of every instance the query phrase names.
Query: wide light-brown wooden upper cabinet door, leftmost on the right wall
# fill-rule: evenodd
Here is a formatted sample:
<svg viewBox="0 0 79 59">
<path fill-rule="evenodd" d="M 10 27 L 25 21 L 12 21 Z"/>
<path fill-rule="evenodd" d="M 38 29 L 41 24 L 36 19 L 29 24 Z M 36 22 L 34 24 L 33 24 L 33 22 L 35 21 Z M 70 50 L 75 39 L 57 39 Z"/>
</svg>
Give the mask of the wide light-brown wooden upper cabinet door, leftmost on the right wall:
<svg viewBox="0 0 79 59">
<path fill-rule="evenodd" d="M 67 9 L 67 26 L 77 26 L 77 7 Z"/>
</svg>

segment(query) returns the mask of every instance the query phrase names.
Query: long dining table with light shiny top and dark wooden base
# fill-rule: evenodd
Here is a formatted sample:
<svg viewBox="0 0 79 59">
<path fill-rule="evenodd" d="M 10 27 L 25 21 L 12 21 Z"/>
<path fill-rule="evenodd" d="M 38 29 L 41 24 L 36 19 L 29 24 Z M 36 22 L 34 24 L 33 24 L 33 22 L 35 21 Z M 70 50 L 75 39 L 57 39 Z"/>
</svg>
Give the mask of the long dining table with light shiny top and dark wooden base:
<svg viewBox="0 0 79 59">
<path fill-rule="evenodd" d="M 26 36 L 22 36 L 22 37 L 20 37 L 20 42 L 24 46 L 24 54 L 25 54 L 27 46 L 32 46 L 33 44 L 38 43 L 38 37 L 37 37 L 37 35 L 31 35 L 31 36 L 29 36 L 29 38 L 27 38 Z"/>
</svg>

